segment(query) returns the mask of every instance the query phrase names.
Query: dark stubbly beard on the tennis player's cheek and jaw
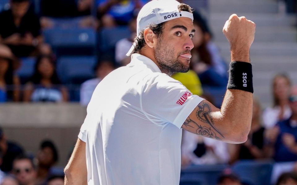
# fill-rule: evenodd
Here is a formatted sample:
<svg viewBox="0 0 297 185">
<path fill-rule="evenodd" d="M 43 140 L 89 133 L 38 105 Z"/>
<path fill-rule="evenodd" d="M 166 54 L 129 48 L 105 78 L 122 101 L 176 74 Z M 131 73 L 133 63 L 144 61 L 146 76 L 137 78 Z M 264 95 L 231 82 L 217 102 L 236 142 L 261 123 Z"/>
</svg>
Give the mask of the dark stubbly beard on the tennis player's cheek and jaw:
<svg viewBox="0 0 297 185">
<path fill-rule="evenodd" d="M 171 76 L 175 72 L 188 72 L 190 65 L 183 64 L 178 59 L 178 56 L 176 56 L 174 47 L 164 44 L 160 37 L 155 49 L 155 59 L 161 72 L 166 73 L 168 76 Z"/>
</svg>

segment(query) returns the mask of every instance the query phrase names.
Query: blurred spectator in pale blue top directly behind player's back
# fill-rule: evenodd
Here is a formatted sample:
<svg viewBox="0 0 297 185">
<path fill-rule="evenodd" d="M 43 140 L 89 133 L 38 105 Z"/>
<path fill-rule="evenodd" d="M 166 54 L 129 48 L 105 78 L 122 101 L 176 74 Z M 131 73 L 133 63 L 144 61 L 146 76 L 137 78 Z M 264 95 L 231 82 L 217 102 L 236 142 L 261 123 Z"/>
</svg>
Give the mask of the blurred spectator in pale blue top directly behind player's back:
<svg viewBox="0 0 297 185">
<path fill-rule="evenodd" d="M 80 105 L 88 105 L 99 82 L 113 70 L 114 66 L 110 61 L 101 61 L 97 63 L 95 66 L 96 78 L 87 80 L 80 86 Z"/>
</svg>

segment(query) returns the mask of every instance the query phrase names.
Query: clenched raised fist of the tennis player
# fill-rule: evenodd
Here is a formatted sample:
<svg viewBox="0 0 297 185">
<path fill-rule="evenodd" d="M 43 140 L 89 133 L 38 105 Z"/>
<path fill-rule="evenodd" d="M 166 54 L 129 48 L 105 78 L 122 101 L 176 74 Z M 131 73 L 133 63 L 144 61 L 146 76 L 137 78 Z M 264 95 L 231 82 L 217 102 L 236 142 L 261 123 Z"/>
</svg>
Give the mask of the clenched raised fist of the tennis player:
<svg viewBox="0 0 297 185">
<path fill-rule="evenodd" d="M 255 38 L 255 30 L 255 23 L 232 14 L 225 23 L 223 33 L 230 43 L 231 51 L 249 51 Z"/>
</svg>

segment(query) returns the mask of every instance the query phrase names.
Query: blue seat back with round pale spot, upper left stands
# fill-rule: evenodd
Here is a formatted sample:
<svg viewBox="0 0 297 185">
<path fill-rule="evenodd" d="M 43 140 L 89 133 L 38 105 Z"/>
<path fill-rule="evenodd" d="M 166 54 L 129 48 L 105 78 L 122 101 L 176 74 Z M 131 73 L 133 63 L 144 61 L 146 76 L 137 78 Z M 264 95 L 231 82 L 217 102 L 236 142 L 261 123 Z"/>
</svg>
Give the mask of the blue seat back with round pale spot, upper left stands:
<svg viewBox="0 0 297 185">
<path fill-rule="evenodd" d="M 45 42 L 60 55 L 94 55 L 96 50 L 96 32 L 93 29 L 61 29 L 44 31 Z"/>
</svg>

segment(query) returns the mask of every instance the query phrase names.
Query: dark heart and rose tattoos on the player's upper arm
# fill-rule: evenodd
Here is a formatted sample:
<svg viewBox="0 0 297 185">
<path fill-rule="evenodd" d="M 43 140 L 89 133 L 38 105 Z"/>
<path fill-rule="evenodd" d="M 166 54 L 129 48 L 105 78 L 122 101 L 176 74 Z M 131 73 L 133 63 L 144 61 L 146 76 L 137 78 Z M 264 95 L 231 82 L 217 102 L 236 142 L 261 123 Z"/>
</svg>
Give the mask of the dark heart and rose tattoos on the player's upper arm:
<svg viewBox="0 0 297 185">
<path fill-rule="evenodd" d="M 193 121 L 190 117 L 187 117 L 186 121 L 183 123 L 182 128 L 183 129 L 196 129 L 195 133 L 207 138 L 213 138 L 217 140 L 222 140 L 222 138 L 225 138 L 214 126 L 213 119 L 210 116 L 211 108 L 209 104 L 206 102 L 201 102 L 199 105 L 197 105 L 197 111 L 196 111 L 196 117 L 204 122 L 207 123 L 208 126 L 202 126 L 195 121 Z M 222 137 L 222 138 L 221 138 Z"/>
</svg>

